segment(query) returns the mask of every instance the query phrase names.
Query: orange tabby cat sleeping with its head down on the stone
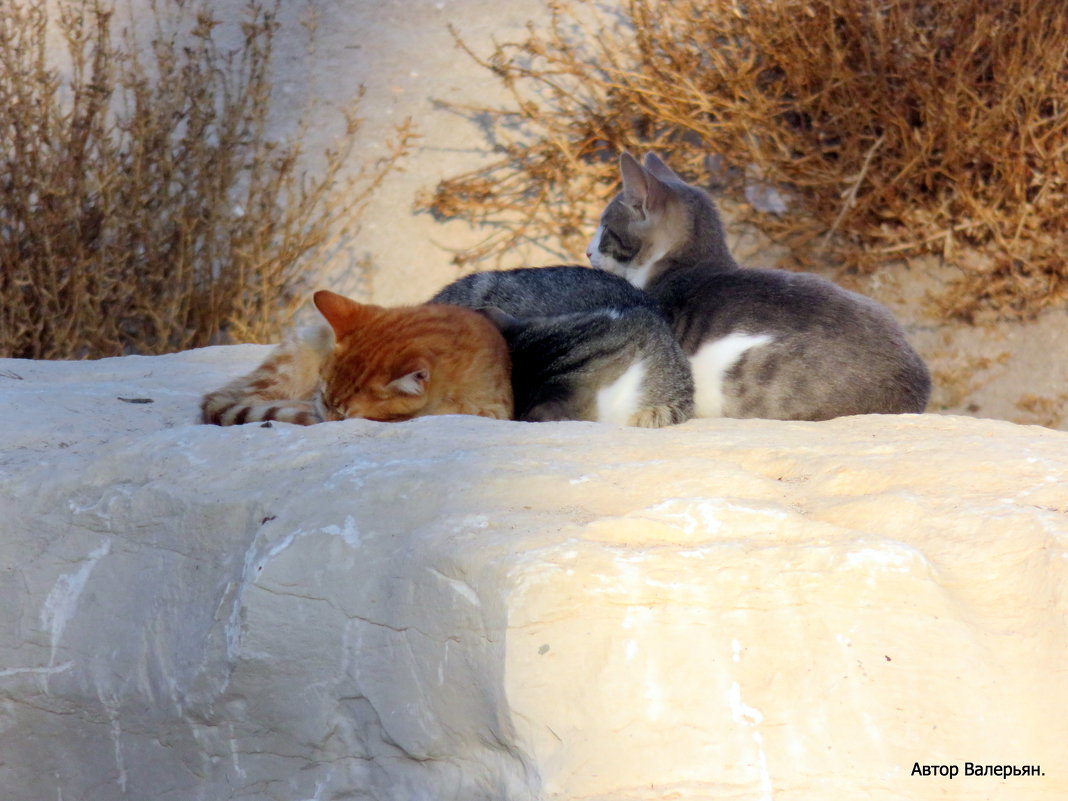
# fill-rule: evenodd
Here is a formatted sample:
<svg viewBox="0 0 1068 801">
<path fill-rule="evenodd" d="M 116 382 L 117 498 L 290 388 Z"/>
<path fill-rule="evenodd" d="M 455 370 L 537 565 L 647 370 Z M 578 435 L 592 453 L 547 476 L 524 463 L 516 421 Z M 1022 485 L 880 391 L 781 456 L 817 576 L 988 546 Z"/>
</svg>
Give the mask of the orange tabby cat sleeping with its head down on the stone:
<svg viewBox="0 0 1068 801">
<path fill-rule="evenodd" d="M 383 309 L 325 289 L 314 301 L 329 327 L 305 329 L 205 395 L 205 423 L 512 418 L 507 345 L 484 315 L 445 304 Z"/>
</svg>

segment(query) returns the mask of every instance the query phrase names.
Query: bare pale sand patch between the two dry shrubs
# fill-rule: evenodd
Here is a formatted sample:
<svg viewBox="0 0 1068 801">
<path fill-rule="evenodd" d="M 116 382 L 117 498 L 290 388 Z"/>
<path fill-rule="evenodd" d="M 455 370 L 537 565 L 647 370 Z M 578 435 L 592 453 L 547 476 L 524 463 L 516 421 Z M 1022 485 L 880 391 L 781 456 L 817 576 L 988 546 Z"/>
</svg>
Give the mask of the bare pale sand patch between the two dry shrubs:
<svg viewBox="0 0 1068 801">
<path fill-rule="evenodd" d="M 216 13 L 232 19 L 244 3 L 218 2 Z M 318 26 L 313 52 L 300 26 L 309 9 Z M 492 76 L 456 46 L 449 26 L 482 53 L 494 37 L 519 37 L 528 21 L 546 18 L 546 4 L 533 0 L 284 4 L 276 58 L 273 128 L 279 135 L 295 129 L 308 98 L 315 97 L 309 152 L 320 152 L 339 135 L 339 110 L 360 85 L 366 94 L 360 105 L 363 124 L 356 160 L 373 164 L 384 157 L 395 126 L 406 119 L 420 135 L 409 156 L 374 193 L 357 234 L 327 265 L 334 289 L 384 304 L 421 302 L 460 274 L 452 264 L 454 253 L 485 234 L 464 222 L 442 223 L 429 214 L 417 214 L 417 195 L 443 178 L 477 168 L 491 155 L 477 121 L 450 105 L 503 104 L 506 96 Z M 528 263 L 525 255 L 516 253 L 513 263 Z"/>
</svg>

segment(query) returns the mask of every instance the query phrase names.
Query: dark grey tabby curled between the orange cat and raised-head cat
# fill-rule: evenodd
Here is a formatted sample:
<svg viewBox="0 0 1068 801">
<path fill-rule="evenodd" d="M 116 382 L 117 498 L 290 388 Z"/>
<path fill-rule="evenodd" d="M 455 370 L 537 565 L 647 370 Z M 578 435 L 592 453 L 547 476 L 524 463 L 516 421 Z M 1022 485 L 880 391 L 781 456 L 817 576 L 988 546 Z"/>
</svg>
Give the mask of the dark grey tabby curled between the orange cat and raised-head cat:
<svg viewBox="0 0 1068 801">
<path fill-rule="evenodd" d="M 519 420 L 649 428 L 693 415 L 693 377 L 656 303 L 588 267 L 476 272 L 433 303 L 482 310 L 512 355 Z"/>
</svg>

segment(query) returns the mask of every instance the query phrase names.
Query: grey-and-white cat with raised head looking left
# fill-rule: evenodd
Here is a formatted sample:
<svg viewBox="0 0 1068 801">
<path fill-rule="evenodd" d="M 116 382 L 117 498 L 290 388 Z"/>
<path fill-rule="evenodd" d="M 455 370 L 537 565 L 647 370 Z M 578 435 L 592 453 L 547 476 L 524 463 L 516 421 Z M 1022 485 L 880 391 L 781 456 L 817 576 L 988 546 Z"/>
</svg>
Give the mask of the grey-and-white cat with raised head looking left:
<svg viewBox="0 0 1068 801">
<path fill-rule="evenodd" d="M 741 269 L 712 200 L 656 155 L 586 250 L 659 303 L 690 359 L 697 417 L 828 420 L 922 412 L 930 376 L 891 313 L 808 273 Z"/>
</svg>

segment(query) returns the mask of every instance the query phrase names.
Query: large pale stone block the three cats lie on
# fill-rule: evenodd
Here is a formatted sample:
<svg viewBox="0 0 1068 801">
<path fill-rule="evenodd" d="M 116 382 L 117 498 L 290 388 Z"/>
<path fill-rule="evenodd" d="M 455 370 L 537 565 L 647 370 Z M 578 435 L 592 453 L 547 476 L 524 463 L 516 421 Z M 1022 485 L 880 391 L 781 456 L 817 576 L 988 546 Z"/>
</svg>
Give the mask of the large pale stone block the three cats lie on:
<svg viewBox="0 0 1068 801">
<path fill-rule="evenodd" d="M 193 424 L 264 352 L 0 361 L 5 801 L 1068 797 L 1068 435 Z"/>
</svg>

